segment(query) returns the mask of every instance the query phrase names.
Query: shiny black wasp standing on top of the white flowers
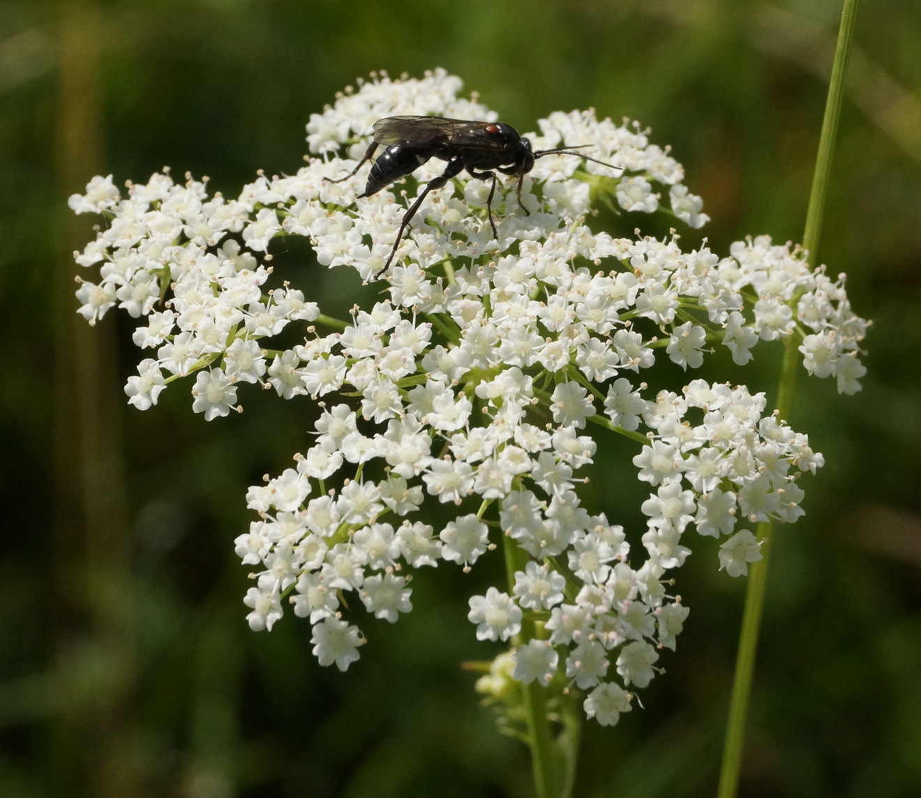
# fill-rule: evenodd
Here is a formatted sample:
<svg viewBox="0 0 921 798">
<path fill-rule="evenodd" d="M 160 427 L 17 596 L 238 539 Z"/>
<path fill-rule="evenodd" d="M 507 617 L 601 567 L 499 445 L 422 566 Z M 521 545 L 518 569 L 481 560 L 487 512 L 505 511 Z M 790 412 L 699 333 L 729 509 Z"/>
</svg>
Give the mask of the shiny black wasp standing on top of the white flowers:
<svg viewBox="0 0 921 798">
<path fill-rule="evenodd" d="M 391 255 L 374 276 L 377 278 L 386 272 L 393 256 L 400 246 L 403 231 L 409 225 L 415 212 L 419 210 L 426 194 L 433 189 L 440 189 L 449 179 L 459 175 L 463 169 L 473 178 L 492 179 L 493 185 L 486 199 L 489 225 L 493 228 L 493 237 L 499 234 L 493 221 L 493 196 L 495 194 L 495 171 L 504 175 L 518 176 L 518 199 L 521 204 L 521 184 L 524 176 L 534 168 L 534 161 L 543 156 L 568 155 L 585 158 L 605 167 L 613 167 L 596 158 L 589 158 L 581 153 L 560 147 L 553 150 L 534 150 L 530 139 L 519 135 L 511 125 L 501 121 L 463 121 L 445 119 L 440 116 L 391 116 L 379 119 L 373 125 L 374 141 L 368 145 L 365 155 L 344 178 L 332 180 L 341 183 L 356 174 L 366 161 L 374 157 L 379 145 L 387 148 L 371 165 L 367 175 L 365 193 L 358 197 L 370 197 L 389 186 L 394 180 L 404 178 L 421 167 L 430 158 L 448 161 L 448 166 L 437 178 L 429 180 L 425 190 L 419 194 L 412 207 L 403 214 L 397 240 L 391 249 Z M 586 145 L 587 146 L 587 145 Z M 578 147 L 574 147 L 577 149 Z M 493 171 L 495 169 L 495 171 Z M 524 208 L 523 205 L 521 205 Z M 524 208 L 525 214 L 528 209 Z"/>
</svg>

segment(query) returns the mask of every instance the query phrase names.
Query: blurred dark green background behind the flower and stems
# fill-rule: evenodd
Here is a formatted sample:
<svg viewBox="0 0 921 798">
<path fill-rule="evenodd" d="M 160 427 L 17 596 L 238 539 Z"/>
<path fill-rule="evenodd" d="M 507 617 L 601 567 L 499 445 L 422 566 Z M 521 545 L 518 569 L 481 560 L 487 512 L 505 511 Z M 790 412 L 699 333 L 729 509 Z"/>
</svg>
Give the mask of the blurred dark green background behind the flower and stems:
<svg viewBox="0 0 921 798">
<path fill-rule="evenodd" d="M 745 796 L 921 794 L 921 4 L 862 6 L 819 256 L 876 320 L 869 374 L 842 398 L 800 372 L 790 421 L 827 466 L 775 535 Z M 231 543 L 244 492 L 306 446 L 313 410 L 251 391 L 242 416 L 206 424 L 190 385 L 127 407 L 131 326 L 74 312 L 68 253 L 93 222 L 69 193 L 164 164 L 235 193 L 257 168 L 295 171 L 309 113 L 357 75 L 444 66 L 519 130 L 589 106 L 651 126 L 720 253 L 747 234 L 799 240 L 840 7 L 2 0 L 0 794 L 531 794 L 526 749 L 460 667 L 496 653 L 465 616 L 497 558 L 420 575 L 395 626 L 356 611 L 369 642 L 344 675 L 290 613 L 248 629 Z M 309 248 L 279 262 L 347 305 Z M 766 350 L 729 378 L 773 399 Z M 589 501 L 635 531 L 632 454 L 605 449 Z M 587 724 L 577 795 L 715 793 L 744 581 L 708 542 L 677 574 L 692 612 L 668 674 L 645 711 Z"/>
</svg>

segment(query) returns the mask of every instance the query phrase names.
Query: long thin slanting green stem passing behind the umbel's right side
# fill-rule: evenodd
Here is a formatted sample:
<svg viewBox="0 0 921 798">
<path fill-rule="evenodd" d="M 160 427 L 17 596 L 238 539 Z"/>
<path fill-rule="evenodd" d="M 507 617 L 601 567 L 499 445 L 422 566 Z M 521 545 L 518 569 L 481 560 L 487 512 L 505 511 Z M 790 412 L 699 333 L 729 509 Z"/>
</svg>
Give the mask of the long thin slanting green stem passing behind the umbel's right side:
<svg viewBox="0 0 921 798">
<path fill-rule="evenodd" d="M 834 66 L 832 67 L 832 80 L 825 106 L 825 117 L 822 121 L 819 154 L 816 158 L 815 173 L 812 178 L 809 211 L 806 214 L 806 232 L 803 236 L 803 247 L 809 250 L 809 257 L 813 266 L 816 263 L 819 237 L 822 232 L 825 195 L 831 173 L 834 141 L 837 136 L 841 103 L 844 98 L 847 59 L 850 54 L 851 40 L 854 36 L 856 18 L 857 0 L 845 0 L 841 28 L 838 31 L 838 43 L 834 52 Z M 792 406 L 793 387 L 796 381 L 797 366 L 799 365 L 798 338 L 795 335 L 790 335 L 784 343 L 784 362 L 781 367 L 780 385 L 777 391 L 777 410 L 780 418 L 786 420 L 789 417 Z M 752 563 L 748 590 L 745 594 L 739 653 L 736 659 L 735 679 L 732 684 L 732 702 L 729 705 L 729 723 L 726 729 L 726 745 L 723 748 L 723 763 L 719 774 L 717 798 L 735 798 L 739 789 L 739 773 L 745 740 L 745 720 L 752 696 L 752 673 L 754 671 L 755 654 L 758 650 L 758 632 L 761 627 L 762 609 L 764 607 L 764 588 L 767 584 L 767 563 L 771 553 L 773 531 L 773 521 L 758 526 L 758 538 L 763 541 L 763 558 Z"/>
</svg>

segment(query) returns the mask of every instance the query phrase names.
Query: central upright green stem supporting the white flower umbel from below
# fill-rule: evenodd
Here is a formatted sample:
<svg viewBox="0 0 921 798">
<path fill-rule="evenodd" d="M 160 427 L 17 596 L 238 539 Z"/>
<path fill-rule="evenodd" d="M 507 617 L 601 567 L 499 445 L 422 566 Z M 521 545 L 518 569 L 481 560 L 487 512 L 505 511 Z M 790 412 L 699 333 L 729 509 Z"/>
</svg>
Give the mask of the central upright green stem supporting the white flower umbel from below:
<svg viewBox="0 0 921 798">
<path fill-rule="evenodd" d="M 525 558 L 518 544 L 507 535 L 502 536 L 502 544 L 506 555 L 506 572 L 508 577 L 508 591 L 515 587 L 515 572 L 523 569 Z M 521 620 L 520 643 L 527 644 L 535 636 L 534 621 Z M 524 703 L 525 716 L 528 719 L 528 745 L 530 746 L 530 761 L 534 769 L 534 785 L 537 788 L 538 798 L 557 798 L 559 795 L 559 779 L 555 769 L 556 757 L 554 756 L 554 735 L 550 729 L 550 719 L 547 717 L 546 689 L 534 679 L 529 685 L 521 686 L 521 698 Z"/>
</svg>

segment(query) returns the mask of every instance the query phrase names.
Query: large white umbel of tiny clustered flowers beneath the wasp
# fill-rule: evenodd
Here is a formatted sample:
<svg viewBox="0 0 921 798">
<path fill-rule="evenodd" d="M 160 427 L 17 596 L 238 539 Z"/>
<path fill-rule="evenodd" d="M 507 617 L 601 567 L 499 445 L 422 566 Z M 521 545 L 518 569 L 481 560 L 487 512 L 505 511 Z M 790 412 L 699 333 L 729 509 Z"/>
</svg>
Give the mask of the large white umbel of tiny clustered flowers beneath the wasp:
<svg viewBox="0 0 921 798">
<path fill-rule="evenodd" d="M 843 275 L 832 280 L 769 237 L 720 257 L 682 251 L 674 233 L 593 230 L 597 201 L 692 227 L 707 216 L 667 149 L 592 111 L 551 114 L 528 135 L 538 148 L 590 145 L 616 169 L 542 158 L 524 180 L 528 214 L 514 181 L 494 200 L 497 240 L 488 183 L 461 174 L 426 199 L 376 283 L 379 301 L 348 321 L 322 315 L 274 273 L 270 242 L 309 237 L 321 266 L 371 280 L 441 162 L 420 168 L 408 190 L 360 200 L 362 174 L 330 178 L 355 165 L 380 118 L 495 120 L 460 88 L 443 71 L 360 82 L 311 116 L 316 157 L 290 177 L 260 175 L 235 199 L 166 171 L 129 183 L 127 197 L 111 176 L 94 178 L 70 200 L 108 223 L 76 254 L 101 264 L 98 282 L 80 284 L 80 312 L 93 323 L 117 305 L 142 320 L 134 342 L 151 356 L 125 387 L 141 410 L 192 373 L 192 408 L 208 421 L 239 408 L 241 383 L 322 402 L 306 451 L 247 494 L 259 518 L 236 547 L 256 569 L 244 599 L 253 630 L 271 630 L 293 605 L 313 625 L 321 665 L 345 670 L 364 642 L 345 594 L 395 621 L 412 608 L 410 572 L 443 561 L 467 570 L 507 536 L 521 567 L 513 584 L 471 597 L 477 637 L 512 641 L 515 678 L 575 684 L 589 717 L 616 723 L 630 707 L 624 688 L 646 687 L 659 650 L 675 647 L 688 608 L 670 572 L 694 536 L 725 538 L 719 567 L 746 573 L 761 557 L 752 525 L 795 521 L 799 476 L 822 466 L 763 393 L 703 379 L 656 390 L 643 372 L 658 358 L 694 369 L 721 347 L 746 364 L 760 341 L 795 336 L 810 374 L 853 393 L 868 322 L 852 312 Z M 292 323 L 303 342 L 272 349 Z M 611 433 L 635 441 L 637 477 L 649 485 L 633 547 L 579 497 L 579 469 Z M 455 506 L 453 520 L 427 523 L 432 503 Z M 532 635 L 521 634 L 523 619 Z"/>
</svg>

